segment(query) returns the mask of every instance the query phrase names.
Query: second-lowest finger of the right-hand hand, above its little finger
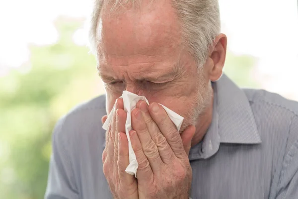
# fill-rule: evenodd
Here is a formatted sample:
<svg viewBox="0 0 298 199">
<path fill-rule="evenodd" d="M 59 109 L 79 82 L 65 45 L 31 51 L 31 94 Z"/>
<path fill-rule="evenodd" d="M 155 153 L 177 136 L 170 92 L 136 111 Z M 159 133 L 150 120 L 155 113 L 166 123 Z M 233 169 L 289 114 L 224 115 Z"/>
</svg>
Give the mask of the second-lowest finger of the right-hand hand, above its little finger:
<svg viewBox="0 0 298 199">
<path fill-rule="evenodd" d="M 158 153 L 158 148 L 151 139 L 141 110 L 139 108 L 135 108 L 131 114 L 132 127 L 138 134 L 144 154 L 149 160 L 152 171 L 157 171 L 158 168 L 160 168 L 162 161 Z"/>
</svg>

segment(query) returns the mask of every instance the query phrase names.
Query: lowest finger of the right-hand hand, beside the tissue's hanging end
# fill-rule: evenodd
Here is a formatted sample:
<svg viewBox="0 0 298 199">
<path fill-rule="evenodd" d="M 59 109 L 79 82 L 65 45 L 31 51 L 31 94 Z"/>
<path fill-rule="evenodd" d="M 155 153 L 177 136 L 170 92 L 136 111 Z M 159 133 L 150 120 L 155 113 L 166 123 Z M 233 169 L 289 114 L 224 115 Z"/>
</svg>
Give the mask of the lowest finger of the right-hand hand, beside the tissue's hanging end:
<svg viewBox="0 0 298 199">
<path fill-rule="evenodd" d="M 129 132 L 129 136 L 139 164 L 137 170 L 138 184 L 148 185 L 148 182 L 153 182 L 153 172 L 150 163 L 143 152 L 137 132 L 132 130 Z"/>
</svg>

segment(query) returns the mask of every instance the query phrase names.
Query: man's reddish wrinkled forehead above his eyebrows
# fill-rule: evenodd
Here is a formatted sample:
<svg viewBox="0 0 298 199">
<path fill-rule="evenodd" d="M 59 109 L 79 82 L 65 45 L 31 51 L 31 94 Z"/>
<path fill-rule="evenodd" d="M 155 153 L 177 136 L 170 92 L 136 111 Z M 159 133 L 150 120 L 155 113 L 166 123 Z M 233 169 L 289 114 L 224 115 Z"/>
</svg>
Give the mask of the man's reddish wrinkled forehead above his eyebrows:
<svg viewBox="0 0 298 199">
<path fill-rule="evenodd" d="M 181 45 L 180 24 L 170 0 L 102 10 L 97 51 L 105 55 L 166 55 Z"/>
</svg>

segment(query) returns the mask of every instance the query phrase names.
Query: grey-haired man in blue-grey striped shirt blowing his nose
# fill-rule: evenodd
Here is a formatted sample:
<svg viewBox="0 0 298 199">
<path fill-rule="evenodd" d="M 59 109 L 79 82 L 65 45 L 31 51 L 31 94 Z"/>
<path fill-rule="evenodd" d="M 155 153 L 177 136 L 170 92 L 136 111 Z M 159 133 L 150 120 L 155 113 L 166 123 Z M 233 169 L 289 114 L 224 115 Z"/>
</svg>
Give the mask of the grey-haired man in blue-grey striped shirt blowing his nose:
<svg viewBox="0 0 298 199">
<path fill-rule="evenodd" d="M 90 32 L 106 96 L 56 125 L 46 199 L 298 199 L 298 103 L 221 78 L 217 0 L 96 0 Z M 131 114 L 137 179 L 125 90 L 149 100 Z"/>
</svg>

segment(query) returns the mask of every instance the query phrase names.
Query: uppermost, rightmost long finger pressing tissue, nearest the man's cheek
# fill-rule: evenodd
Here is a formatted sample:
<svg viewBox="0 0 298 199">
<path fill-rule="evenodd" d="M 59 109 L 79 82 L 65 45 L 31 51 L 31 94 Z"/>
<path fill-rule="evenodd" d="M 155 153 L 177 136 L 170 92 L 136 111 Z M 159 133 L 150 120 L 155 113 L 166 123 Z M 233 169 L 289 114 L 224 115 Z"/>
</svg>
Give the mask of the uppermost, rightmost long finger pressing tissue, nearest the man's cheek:
<svg viewBox="0 0 298 199">
<path fill-rule="evenodd" d="M 153 102 L 149 105 L 149 113 L 163 136 L 166 138 L 176 157 L 183 158 L 185 152 L 180 133 L 163 107 L 160 104 Z"/>
</svg>

